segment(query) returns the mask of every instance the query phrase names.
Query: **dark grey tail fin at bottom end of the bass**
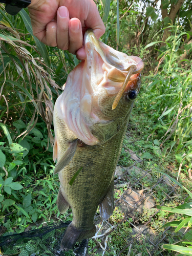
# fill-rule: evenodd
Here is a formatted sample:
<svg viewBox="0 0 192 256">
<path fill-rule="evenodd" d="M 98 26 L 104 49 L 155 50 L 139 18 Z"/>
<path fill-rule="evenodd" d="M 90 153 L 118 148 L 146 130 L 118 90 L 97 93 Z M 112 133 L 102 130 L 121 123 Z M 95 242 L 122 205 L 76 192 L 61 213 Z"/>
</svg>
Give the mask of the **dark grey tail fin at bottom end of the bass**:
<svg viewBox="0 0 192 256">
<path fill-rule="evenodd" d="M 61 250 L 70 250 L 73 249 L 76 242 L 81 241 L 82 239 L 92 238 L 95 235 L 96 227 L 93 223 L 92 229 L 89 230 L 83 230 L 83 229 L 77 229 L 73 222 L 70 223 L 70 225 L 67 227 L 64 237 L 61 241 Z"/>
</svg>

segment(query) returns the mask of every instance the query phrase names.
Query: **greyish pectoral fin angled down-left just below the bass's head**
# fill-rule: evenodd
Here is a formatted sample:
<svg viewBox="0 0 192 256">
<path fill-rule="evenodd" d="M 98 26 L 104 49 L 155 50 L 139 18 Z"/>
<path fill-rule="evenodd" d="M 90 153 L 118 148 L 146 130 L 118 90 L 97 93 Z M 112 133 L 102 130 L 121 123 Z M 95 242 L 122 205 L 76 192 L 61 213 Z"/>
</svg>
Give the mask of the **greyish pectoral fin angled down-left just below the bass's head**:
<svg viewBox="0 0 192 256">
<path fill-rule="evenodd" d="M 62 155 L 59 161 L 55 165 L 54 174 L 58 174 L 60 170 L 62 170 L 69 162 L 72 160 L 75 155 L 75 151 L 77 148 L 77 139 L 70 143 L 70 146 L 66 150 L 66 152 Z"/>
</svg>

